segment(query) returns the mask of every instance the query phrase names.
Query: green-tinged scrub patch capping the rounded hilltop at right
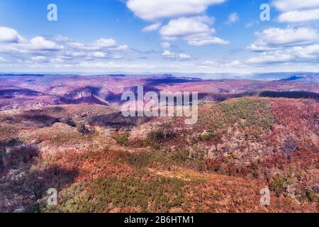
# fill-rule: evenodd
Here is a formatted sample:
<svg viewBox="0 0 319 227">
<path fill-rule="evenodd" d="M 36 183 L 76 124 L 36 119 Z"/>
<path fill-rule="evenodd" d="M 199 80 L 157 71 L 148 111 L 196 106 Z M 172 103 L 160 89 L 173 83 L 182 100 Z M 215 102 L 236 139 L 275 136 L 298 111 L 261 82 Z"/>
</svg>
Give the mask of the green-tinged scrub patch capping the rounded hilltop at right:
<svg viewBox="0 0 319 227">
<path fill-rule="evenodd" d="M 225 134 L 228 129 L 247 135 L 259 136 L 272 128 L 272 110 L 262 99 L 240 98 L 224 101 L 216 106 L 203 106 L 199 110 L 196 130 Z"/>
</svg>

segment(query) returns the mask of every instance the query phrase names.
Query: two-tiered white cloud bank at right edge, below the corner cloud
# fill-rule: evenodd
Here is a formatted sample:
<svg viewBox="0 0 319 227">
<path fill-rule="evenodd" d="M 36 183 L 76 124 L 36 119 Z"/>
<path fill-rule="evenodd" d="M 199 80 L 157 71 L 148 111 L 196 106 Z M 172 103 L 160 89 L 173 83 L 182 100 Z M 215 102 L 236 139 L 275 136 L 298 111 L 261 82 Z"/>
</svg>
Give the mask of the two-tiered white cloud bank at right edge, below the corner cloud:
<svg viewBox="0 0 319 227">
<path fill-rule="evenodd" d="M 261 53 L 247 60 L 250 65 L 319 62 L 319 34 L 313 28 L 267 28 L 256 35 L 258 39 L 248 49 Z"/>
</svg>

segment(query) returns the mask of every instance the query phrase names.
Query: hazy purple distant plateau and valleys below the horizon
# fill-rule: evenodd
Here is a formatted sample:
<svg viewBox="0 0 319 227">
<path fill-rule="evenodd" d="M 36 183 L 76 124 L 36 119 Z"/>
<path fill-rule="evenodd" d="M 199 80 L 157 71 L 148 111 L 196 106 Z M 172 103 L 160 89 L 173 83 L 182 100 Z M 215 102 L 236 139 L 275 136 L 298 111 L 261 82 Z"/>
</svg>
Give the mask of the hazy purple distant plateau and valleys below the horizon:
<svg viewBox="0 0 319 227">
<path fill-rule="evenodd" d="M 199 75 L 198 75 L 199 76 Z M 258 96 L 263 91 L 318 92 L 318 74 L 255 75 L 256 79 L 201 79 L 165 75 L 0 75 L 0 109 L 54 104 L 118 105 L 121 94 L 143 85 L 145 92 L 198 92 L 201 99 L 223 101 L 236 96 Z M 265 78 L 276 80 L 264 80 Z M 289 79 L 290 78 L 290 79 Z M 305 82 L 306 81 L 306 82 Z M 147 91 L 146 91 L 147 90 Z"/>
</svg>

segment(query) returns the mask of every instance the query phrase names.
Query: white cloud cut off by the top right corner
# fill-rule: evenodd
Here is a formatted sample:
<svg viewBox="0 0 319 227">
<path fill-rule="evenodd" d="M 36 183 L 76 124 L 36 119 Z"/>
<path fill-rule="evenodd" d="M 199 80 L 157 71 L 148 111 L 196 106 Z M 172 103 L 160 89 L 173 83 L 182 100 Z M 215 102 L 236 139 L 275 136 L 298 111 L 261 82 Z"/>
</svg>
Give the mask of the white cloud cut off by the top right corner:
<svg viewBox="0 0 319 227">
<path fill-rule="evenodd" d="M 319 0 L 273 0 L 272 4 L 282 12 L 279 22 L 303 23 L 319 20 Z"/>
</svg>

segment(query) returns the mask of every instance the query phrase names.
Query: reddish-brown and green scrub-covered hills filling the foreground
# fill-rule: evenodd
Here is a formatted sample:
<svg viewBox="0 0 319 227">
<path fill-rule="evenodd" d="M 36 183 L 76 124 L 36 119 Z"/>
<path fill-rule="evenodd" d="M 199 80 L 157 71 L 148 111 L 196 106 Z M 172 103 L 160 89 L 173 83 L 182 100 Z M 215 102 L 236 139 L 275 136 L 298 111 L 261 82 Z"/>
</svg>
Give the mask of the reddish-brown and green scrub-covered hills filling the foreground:
<svg viewBox="0 0 319 227">
<path fill-rule="evenodd" d="M 103 114 L 92 106 L 0 113 L 0 211 L 318 212 L 318 109 L 231 99 L 200 106 L 194 126 L 155 119 L 141 134 L 87 126 Z M 26 121 L 39 114 L 50 117 Z M 46 204 L 52 187 L 57 206 Z M 264 187 L 271 206 L 259 204 Z"/>
</svg>

